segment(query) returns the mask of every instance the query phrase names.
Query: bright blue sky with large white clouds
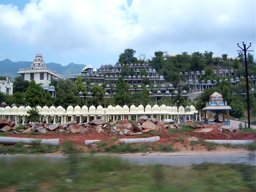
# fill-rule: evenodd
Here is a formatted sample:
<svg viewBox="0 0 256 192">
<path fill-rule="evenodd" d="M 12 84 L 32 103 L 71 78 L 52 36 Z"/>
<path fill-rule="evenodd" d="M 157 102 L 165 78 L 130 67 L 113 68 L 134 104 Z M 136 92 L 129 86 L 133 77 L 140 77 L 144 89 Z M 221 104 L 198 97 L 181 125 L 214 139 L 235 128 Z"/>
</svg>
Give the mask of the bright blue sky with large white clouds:
<svg viewBox="0 0 256 192">
<path fill-rule="evenodd" d="M 237 56 L 252 46 L 255 0 L 0 0 L 0 60 L 115 64 L 135 57 L 212 51 Z"/>
</svg>

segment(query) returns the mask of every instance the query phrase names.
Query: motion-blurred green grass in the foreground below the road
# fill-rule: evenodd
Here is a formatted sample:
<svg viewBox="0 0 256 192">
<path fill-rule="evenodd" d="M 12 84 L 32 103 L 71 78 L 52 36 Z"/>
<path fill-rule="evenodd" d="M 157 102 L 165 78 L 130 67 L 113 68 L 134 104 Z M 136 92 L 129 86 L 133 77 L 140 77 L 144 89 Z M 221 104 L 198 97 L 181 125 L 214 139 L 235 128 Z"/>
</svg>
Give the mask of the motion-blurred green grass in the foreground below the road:
<svg viewBox="0 0 256 192">
<path fill-rule="evenodd" d="M 109 156 L 0 160 L 0 191 L 255 191 L 255 166 L 137 166 Z M 25 163 L 29 162 L 29 163 Z M 72 170 L 72 171 L 71 171 Z"/>
</svg>

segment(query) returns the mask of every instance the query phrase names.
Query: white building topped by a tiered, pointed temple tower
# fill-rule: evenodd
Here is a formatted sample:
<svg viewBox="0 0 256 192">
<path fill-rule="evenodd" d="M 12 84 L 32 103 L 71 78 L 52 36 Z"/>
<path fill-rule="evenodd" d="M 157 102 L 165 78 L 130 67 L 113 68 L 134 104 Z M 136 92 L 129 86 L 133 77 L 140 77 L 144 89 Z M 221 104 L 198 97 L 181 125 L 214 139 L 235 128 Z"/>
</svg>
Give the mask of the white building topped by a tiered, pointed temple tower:
<svg viewBox="0 0 256 192">
<path fill-rule="evenodd" d="M 44 85 L 48 85 L 51 82 L 51 78 L 60 78 L 64 79 L 65 77 L 57 73 L 56 71 L 52 71 L 46 68 L 44 64 L 44 60 L 40 51 L 36 53 L 36 58 L 31 64 L 31 68 L 20 69 L 18 72 L 19 76 L 22 76 L 24 80 L 31 81 L 34 79 L 36 83 L 42 83 Z"/>
</svg>

